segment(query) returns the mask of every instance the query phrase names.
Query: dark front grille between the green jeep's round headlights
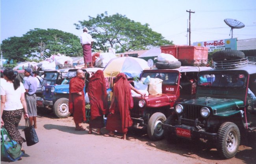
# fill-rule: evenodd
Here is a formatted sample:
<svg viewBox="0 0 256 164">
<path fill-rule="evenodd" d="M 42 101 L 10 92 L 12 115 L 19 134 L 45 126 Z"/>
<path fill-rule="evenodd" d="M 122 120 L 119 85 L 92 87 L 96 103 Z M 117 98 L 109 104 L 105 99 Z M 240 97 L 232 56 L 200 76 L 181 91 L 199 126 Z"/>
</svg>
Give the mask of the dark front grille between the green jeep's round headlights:
<svg viewBox="0 0 256 164">
<path fill-rule="evenodd" d="M 201 118 L 200 110 L 202 106 L 195 106 L 191 104 L 182 104 L 182 106 L 184 106 L 183 118 L 187 118 L 190 120 Z"/>
</svg>

